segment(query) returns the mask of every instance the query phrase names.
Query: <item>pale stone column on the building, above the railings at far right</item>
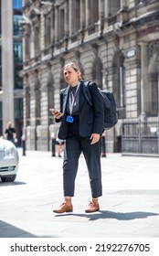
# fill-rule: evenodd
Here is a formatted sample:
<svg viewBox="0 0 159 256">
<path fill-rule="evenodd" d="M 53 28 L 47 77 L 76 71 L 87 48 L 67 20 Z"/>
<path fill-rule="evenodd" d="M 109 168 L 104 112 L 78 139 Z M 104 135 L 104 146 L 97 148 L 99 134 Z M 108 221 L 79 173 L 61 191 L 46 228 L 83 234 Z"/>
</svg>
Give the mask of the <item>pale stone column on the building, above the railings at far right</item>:
<svg viewBox="0 0 159 256">
<path fill-rule="evenodd" d="M 148 83 L 148 48 L 147 43 L 140 43 L 141 46 L 141 117 L 146 116 L 149 111 L 149 83 Z"/>
</svg>

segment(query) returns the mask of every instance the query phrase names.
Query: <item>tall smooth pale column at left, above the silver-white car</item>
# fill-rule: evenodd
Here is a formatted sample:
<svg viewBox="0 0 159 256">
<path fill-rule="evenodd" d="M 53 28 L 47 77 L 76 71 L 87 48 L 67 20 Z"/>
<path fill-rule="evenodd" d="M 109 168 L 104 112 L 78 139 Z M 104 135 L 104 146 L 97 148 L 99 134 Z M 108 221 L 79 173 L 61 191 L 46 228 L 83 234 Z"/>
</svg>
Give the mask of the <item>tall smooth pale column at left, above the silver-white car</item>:
<svg viewBox="0 0 159 256">
<path fill-rule="evenodd" d="M 2 86 L 3 86 L 3 133 L 6 123 L 15 126 L 14 106 L 14 55 L 13 55 L 13 1 L 1 1 L 2 12 Z"/>
</svg>

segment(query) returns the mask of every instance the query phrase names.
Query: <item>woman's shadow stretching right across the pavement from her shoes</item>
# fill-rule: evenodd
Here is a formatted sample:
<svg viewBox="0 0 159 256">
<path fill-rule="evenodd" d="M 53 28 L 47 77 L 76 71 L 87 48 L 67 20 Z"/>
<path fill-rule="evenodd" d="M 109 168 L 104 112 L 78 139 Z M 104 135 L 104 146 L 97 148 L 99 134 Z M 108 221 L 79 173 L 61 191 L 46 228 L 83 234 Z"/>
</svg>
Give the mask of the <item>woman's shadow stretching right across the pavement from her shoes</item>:
<svg viewBox="0 0 159 256">
<path fill-rule="evenodd" d="M 132 219 L 145 219 L 151 216 L 157 216 L 158 213 L 154 212 L 143 212 L 143 211 L 135 211 L 135 212 L 114 212 L 108 210 L 100 210 L 96 213 L 87 213 L 87 214 L 77 214 L 77 213 L 69 213 L 69 214 L 61 214 L 55 215 L 55 217 L 66 217 L 66 216 L 74 216 L 74 217 L 85 217 L 89 220 L 97 220 L 97 219 L 118 219 L 118 220 L 132 220 Z"/>
</svg>

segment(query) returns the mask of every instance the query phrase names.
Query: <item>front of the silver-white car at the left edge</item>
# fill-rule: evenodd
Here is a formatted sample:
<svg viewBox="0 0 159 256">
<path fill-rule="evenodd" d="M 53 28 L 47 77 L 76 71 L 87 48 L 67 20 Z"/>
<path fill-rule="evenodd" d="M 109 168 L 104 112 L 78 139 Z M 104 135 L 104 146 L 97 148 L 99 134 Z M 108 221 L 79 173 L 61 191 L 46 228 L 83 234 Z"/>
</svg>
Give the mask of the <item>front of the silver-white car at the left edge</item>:
<svg viewBox="0 0 159 256">
<path fill-rule="evenodd" d="M 19 155 L 15 144 L 0 137 L 0 179 L 13 182 L 19 165 Z"/>
</svg>

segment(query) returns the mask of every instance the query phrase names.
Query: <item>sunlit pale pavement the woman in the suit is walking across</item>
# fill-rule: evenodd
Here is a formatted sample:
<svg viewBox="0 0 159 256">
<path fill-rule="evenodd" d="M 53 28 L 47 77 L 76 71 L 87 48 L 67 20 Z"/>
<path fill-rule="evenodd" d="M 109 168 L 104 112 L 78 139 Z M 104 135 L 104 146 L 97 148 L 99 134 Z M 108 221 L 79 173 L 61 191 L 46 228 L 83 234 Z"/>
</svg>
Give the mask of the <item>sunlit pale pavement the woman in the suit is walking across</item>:
<svg viewBox="0 0 159 256">
<path fill-rule="evenodd" d="M 101 158 L 101 210 L 86 214 L 90 184 L 80 157 L 74 211 L 52 212 L 63 201 L 62 159 L 19 149 L 16 182 L 0 182 L 0 237 L 159 237 L 159 159 L 108 154 Z"/>
</svg>

